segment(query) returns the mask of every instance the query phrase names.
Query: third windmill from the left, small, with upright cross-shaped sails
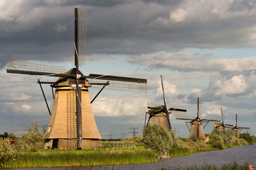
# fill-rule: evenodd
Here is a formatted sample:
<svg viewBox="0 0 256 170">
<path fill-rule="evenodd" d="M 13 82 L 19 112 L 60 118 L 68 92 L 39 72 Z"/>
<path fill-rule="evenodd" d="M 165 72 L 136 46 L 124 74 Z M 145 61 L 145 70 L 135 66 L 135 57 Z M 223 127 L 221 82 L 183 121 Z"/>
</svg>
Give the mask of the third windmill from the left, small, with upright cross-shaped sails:
<svg viewBox="0 0 256 170">
<path fill-rule="evenodd" d="M 198 108 L 197 108 L 197 113 L 196 113 L 196 118 L 176 118 L 178 120 L 190 120 L 186 122 L 186 125 L 188 127 L 188 123 L 191 124 L 191 130 L 188 131 L 190 132 L 189 134 L 189 139 L 191 140 L 206 140 L 206 136 L 204 135 L 203 128 L 206 127 L 206 125 L 209 122 L 220 122 L 220 120 L 210 120 L 210 119 L 201 119 L 199 118 L 199 98 L 198 98 Z M 203 123 L 206 123 L 206 125 L 203 126 Z"/>
</svg>

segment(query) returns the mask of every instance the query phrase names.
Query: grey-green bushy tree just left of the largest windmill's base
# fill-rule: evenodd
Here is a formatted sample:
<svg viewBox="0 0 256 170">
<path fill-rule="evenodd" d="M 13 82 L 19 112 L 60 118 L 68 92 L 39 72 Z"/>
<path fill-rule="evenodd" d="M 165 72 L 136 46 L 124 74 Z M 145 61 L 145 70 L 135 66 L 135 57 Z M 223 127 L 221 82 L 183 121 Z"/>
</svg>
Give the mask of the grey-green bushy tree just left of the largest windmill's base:
<svg viewBox="0 0 256 170">
<path fill-rule="evenodd" d="M 43 145 L 43 132 L 38 120 L 34 120 L 31 125 L 28 125 L 28 132 L 18 137 L 17 145 L 20 149 L 35 149 Z"/>
</svg>

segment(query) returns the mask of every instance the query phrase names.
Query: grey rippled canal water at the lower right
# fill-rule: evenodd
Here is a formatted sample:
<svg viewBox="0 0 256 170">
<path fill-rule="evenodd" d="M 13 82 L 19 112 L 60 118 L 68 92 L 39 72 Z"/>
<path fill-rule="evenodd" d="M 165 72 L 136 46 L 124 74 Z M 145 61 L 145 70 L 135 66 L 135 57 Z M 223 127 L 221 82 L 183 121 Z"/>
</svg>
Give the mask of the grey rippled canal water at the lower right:
<svg viewBox="0 0 256 170">
<path fill-rule="evenodd" d="M 222 166 L 232 162 L 238 164 L 245 164 L 248 162 L 256 167 L 256 145 L 245 145 L 242 147 L 233 147 L 225 150 L 202 152 L 191 154 L 186 157 L 175 157 L 171 159 L 161 159 L 159 162 L 151 164 L 129 164 L 129 165 L 116 165 L 116 166 L 91 166 L 91 167 L 53 167 L 53 168 L 33 168 L 28 170 L 82 170 L 82 169 L 117 169 L 117 170 L 139 170 L 139 169 L 175 169 L 177 167 L 187 166 L 203 166 L 206 164 L 214 164 L 215 166 Z M 18 169 L 15 169 L 18 170 Z M 24 169 L 22 169 L 24 170 Z"/>
</svg>

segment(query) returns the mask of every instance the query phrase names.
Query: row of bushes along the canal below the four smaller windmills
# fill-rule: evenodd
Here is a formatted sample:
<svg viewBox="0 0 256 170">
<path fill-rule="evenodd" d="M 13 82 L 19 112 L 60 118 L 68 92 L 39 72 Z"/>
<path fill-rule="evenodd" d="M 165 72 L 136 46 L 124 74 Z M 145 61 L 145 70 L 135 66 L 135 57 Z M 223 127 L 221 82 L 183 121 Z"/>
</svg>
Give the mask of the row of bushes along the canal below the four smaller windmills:
<svg viewBox="0 0 256 170">
<path fill-rule="evenodd" d="M 235 137 L 232 130 L 213 130 L 206 134 L 207 140 L 183 140 L 176 137 L 172 130 L 167 131 L 159 125 L 151 125 L 143 131 L 142 144 L 146 149 L 153 149 L 157 154 L 171 154 L 173 150 L 183 149 L 189 153 L 206 152 L 241 145 L 252 145 L 256 137 L 249 133 Z"/>
</svg>

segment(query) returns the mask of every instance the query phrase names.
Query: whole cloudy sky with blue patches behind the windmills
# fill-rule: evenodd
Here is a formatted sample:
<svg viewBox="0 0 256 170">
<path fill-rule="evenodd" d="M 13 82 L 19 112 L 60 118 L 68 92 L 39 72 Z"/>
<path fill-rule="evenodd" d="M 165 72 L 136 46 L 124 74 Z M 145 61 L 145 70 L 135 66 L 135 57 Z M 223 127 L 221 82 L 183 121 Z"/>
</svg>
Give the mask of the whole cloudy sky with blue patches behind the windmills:
<svg viewBox="0 0 256 170">
<path fill-rule="evenodd" d="M 146 93 L 104 90 L 92 103 L 102 138 L 141 135 L 146 102 L 196 117 L 250 127 L 256 135 L 256 1 L 254 0 L 1 0 L 0 134 L 16 136 L 38 120 L 48 124 L 41 81 L 57 78 L 7 74 L 7 60 L 73 66 L 74 8 L 88 10 L 83 74 L 147 79 Z M 43 85 L 50 107 L 53 97 Z M 89 89 L 93 98 L 99 89 Z M 183 120 L 171 114 L 179 137 L 188 137 Z M 213 130 L 213 123 L 205 133 Z M 246 131 L 242 131 L 246 132 Z"/>
</svg>

